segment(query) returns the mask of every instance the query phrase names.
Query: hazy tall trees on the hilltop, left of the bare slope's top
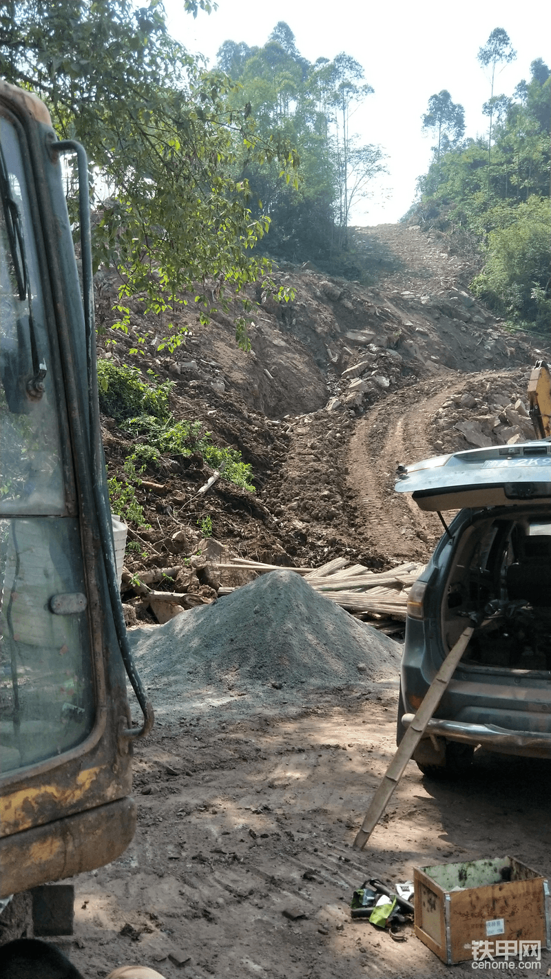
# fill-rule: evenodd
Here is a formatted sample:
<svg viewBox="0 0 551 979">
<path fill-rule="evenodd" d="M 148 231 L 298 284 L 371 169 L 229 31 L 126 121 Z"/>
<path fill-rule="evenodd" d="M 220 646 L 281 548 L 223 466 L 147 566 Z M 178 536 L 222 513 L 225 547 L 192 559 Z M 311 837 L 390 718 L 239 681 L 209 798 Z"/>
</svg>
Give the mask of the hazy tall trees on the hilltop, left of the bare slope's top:
<svg viewBox="0 0 551 979">
<path fill-rule="evenodd" d="M 284 22 L 261 48 L 225 41 L 218 69 L 239 82 L 232 107 L 245 105 L 262 135 L 276 131 L 298 150 L 298 182 L 290 182 L 276 161 L 243 158 L 253 214 L 270 217 L 269 234 L 257 247 L 331 269 L 347 248 L 350 208 L 384 170 L 381 148 L 356 145 L 349 128 L 354 107 L 373 91 L 363 69 L 344 53 L 311 65 Z"/>
</svg>

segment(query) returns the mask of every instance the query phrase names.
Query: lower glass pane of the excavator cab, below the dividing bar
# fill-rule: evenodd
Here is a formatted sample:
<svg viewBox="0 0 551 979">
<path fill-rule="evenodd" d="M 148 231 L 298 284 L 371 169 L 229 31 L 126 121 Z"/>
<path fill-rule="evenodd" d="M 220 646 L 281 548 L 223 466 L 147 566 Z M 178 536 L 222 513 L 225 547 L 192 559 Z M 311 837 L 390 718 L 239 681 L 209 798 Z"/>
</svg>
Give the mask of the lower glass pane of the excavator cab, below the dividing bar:
<svg viewBox="0 0 551 979">
<path fill-rule="evenodd" d="M 79 555 L 77 520 L 0 520 L 2 773 L 59 755 L 91 730 L 86 612 L 52 611 L 55 596 L 85 593 Z"/>
</svg>

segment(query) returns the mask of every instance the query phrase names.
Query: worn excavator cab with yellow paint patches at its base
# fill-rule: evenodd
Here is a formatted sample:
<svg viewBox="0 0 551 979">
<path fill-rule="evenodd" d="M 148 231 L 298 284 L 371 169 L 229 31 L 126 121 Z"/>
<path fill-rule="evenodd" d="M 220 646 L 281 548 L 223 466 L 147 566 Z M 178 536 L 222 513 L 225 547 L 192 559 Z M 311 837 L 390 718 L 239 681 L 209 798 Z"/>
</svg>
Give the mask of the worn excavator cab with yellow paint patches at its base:
<svg viewBox="0 0 551 979">
<path fill-rule="evenodd" d="M 64 196 L 76 155 L 81 276 Z M 115 572 L 99 427 L 88 174 L 0 81 L 0 898 L 115 860 L 153 724 Z M 132 726 L 126 676 L 144 721 Z"/>
</svg>

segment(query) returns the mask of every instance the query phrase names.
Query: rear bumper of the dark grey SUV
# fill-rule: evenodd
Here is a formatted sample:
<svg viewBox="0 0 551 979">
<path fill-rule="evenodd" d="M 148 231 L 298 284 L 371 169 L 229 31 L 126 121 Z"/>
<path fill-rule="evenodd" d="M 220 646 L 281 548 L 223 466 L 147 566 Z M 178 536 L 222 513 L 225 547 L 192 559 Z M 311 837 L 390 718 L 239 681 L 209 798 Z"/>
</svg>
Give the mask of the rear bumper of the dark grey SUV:
<svg viewBox="0 0 551 979">
<path fill-rule="evenodd" d="M 414 714 L 404 714 L 401 723 L 409 727 Z M 448 741 L 482 745 L 503 755 L 524 755 L 527 758 L 551 758 L 551 734 L 535 731 L 516 731 L 495 724 L 474 724 L 461 721 L 441 721 L 433 718 L 425 736 L 444 737 Z"/>
</svg>

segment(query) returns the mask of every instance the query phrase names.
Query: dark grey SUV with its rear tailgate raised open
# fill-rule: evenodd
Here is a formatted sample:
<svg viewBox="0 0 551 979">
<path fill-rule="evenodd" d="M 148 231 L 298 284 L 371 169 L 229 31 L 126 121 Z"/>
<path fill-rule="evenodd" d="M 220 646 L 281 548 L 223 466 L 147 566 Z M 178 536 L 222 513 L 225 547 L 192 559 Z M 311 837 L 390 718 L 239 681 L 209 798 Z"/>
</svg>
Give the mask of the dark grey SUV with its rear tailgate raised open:
<svg viewBox="0 0 551 979">
<path fill-rule="evenodd" d="M 442 455 L 398 476 L 422 510 L 459 510 L 409 593 L 398 743 L 475 612 L 482 625 L 415 761 L 464 769 L 481 745 L 551 758 L 551 441 Z"/>
</svg>

